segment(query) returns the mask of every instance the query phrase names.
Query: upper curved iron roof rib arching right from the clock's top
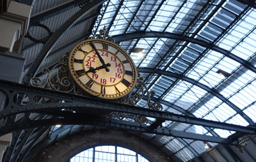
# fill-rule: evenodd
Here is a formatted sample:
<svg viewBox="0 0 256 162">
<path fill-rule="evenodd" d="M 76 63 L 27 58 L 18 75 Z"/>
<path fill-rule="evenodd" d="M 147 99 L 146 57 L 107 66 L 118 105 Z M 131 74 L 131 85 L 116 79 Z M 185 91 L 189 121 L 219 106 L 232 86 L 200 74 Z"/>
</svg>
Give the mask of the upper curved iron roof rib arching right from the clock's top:
<svg viewBox="0 0 256 162">
<path fill-rule="evenodd" d="M 240 57 L 237 57 L 236 55 L 230 53 L 230 51 L 226 49 L 222 49 L 220 47 L 217 47 L 216 45 L 213 45 L 211 43 L 207 43 L 205 41 L 201 41 L 197 38 L 192 38 L 189 36 L 182 36 L 180 34 L 174 34 L 171 32 L 131 32 L 127 34 L 119 34 L 116 36 L 112 36 L 117 43 L 122 41 L 128 41 L 136 38 L 171 38 L 176 39 L 180 41 L 187 41 L 190 43 L 195 43 L 197 45 L 201 45 L 203 47 L 207 47 L 208 49 L 211 49 L 213 51 L 216 51 L 218 53 L 222 53 L 226 57 L 233 59 L 234 61 L 237 61 L 238 63 L 242 64 L 245 68 L 253 71 L 256 73 L 256 68 L 253 64 L 249 63 L 245 59 L 242 59 Z"/>
</svg>

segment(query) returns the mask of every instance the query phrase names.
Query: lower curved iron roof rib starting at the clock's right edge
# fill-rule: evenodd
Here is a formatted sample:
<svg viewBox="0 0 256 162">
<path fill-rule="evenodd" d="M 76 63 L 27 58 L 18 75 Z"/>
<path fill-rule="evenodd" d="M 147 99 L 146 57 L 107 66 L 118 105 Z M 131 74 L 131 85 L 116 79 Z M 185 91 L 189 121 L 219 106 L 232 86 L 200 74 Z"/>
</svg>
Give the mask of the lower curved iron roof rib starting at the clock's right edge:
<svg viewBox="0 0 256 162">
<path fill-rule="evenodd" d="M 215 97 L 220 99 L 222 102 L 226 103 L 228 106 L 230 106 L 234 111 L 236 111 L 238 114 L 240 114 L 244 119 L 253 126 L 255 123 L 253 120 L 247 116 L 241 109 L 239 109 L 234 103 L 230 102 L 228 99 L 226 99 L 222 94 L 217 92 L 214 88 L 209 88 L 208 86 L 205 86 L 205 84 L 201 84 L 200 82 L 197 82 L 196 80 L 193 80 L 191 78 L 188 78 L 186 76 L 182 76 L 173 72 L 163 71 L 163 70 L 155 70 L 153 68 L 138 68 L 138 72 L 144 72 L 144 73 L 153 73 L 153 74 L 161 74 L 165 76 L 171 76 L 180 80 L 184 80 L 186 82 L 189 82 L 191 84 L 194 84 L 195 86 L 198 86 L 199 88 L 202 88 L 203 90 L 206 90 L 207 92 L 213 94 Z"/>
</svg>

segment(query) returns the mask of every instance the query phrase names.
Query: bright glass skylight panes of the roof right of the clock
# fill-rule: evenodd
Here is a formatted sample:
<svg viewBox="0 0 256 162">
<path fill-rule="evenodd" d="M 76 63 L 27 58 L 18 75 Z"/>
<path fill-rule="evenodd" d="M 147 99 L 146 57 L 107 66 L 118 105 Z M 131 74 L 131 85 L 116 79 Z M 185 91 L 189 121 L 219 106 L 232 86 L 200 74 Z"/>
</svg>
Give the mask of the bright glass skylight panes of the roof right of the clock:
<svg viewBox="0 0 256 162">
<path fill-rule="evenodd" d="M 120 4 L 119 2 L 113 4 Z M 184 35 L 188 32 L 186 36 L 205 41 L 209 46 L 220 47 L 223 51 L 226 50 L 227 53 L 248 62 L 253 63 L 255 59 L 256 12 L 255 9 L 248 11 L 247 5 L 235 0 L 216 0 L 213 3 L 210 1 L 133 2 L 124 1 L 124 5 L 120 7 L 118 16 L 111 26 L 111 35 L 138 31 Z M 158 7 L 159 10 L 156 11 Z M 115 9 L 117 8 L 116 5 Z M 111 22 L 110 15 L 113 13 L 109 12 L 109 15 L 103 18 L 109 16 L 107 21 Z M 170 105 L 190 111 L 196 117 L 203 119 L 248 126 L 249 122 L 234 110 L 238 107 L 255 122 L 255 73 L 247 70 L 234 59 L 230 59 L 224 55 L 225 53 L 207 49 L 195 42 L 170 38 L 140 38 L 120 45 L 130 53 L 138 68 L 165 70 L 191 79 L 191 82 L 186 82 L 172 76 L 143 73 L 142 76 L 146 79 L 149 90 L 155 91 L 155 97 L 160 101 L 167 101 Z M 132 52 L 134 48 L 142 48 L 142 55 Z M 201 86 L 195 86 L 197 82 Z M 216 97 L 207 90 L 213 90 L 212 92 L 219 96 Z M 144 103 L 145 101 L 142 101 L 139 105 Z M 168 106 L 164 106 L 164 111 L 181 113 Z M 164 122 L 163 126 L 212 136 L 202 126 L 177 122 Z M 234 133 L 221 129 L 213 131 L 224 138 Z M 176 138 L 148 135 L 165 144 L 165 147 L 173 151 L 182 161 L 188 161 L 207 150 L 204 148 L 204 142 L 184 140 L 188 141 L 184 144 Z M 211 145 L 214 146 L 215 143 Z M 195 151 L 191 150 L 191 147 Z"/>
</svg>

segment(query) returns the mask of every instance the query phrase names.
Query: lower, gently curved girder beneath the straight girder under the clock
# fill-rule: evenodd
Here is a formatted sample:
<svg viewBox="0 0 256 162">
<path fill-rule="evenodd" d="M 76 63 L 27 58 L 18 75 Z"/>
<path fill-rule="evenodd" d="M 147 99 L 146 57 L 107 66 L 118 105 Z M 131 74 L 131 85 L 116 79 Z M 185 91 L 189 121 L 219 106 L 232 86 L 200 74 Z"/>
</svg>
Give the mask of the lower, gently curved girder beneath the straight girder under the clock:
<svg viewBox="0 0 256 162">
<path fill-rule="evenodd" d="M 38 126 L 51 126 L 51 125 L 88 125 L 88 126 L 104 126 L 107 128 L 119 128 L 123 130 L 132 130 L 136 132 L 149 133 L 149 134 L 159 134 L 163 136 L 174 136 L 180 138 L 188 138 L 192 140 L 203 140 L 209 142 L 217 142 L 224 144 L 238 144 L 237 141 L 230 141 L 227 138 L 207 136 L 203 134 L 195 134 L 190 132 L 183 132 L 178 130 L 171 130 L 170 128 L 155 128 L 153 130 L 147 130 L 145 124 L 138 124 L 136 122 L 117 120 L 117 119 L 107 119 L 105 117 L 99 117 L 98 119 L 92 117 L 91 115 L 80 115 L 76 117 L 70 115 L 70 117 L 64 117 L 59 119 L 44 119 L 32 121 L 29 125 L 26 125 L 25 128 L 33 128 Z M 24 127 L 23 127 L 24 128 Z"/>
</svg>

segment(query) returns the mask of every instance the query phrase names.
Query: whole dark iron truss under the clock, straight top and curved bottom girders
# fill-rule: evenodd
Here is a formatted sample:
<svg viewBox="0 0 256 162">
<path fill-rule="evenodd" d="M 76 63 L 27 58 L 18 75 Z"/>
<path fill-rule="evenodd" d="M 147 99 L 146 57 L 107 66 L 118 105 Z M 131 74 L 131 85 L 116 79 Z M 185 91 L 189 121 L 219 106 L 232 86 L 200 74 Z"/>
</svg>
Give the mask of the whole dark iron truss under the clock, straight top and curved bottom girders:
<svg viewBox="0 0 256 162">
<path fill-rule="evenodd" d="M 3 80 L 0 82 L 0 90 L 6 94 L 5 101 L 7 101 L 5 104 L 5 109 L 0 112 L 0 135 L 7 134 L 15 130 L 54 126 L 56 124 L 71 124 L 104 126 L 124 130 L 134 130 L 149 134 L 175 136 L 180 138 L 205 140 L 226 144 L 237 144 L 236 141 L 230 141 L 226 138 L 171 130 L 170 128 L 163 128 L 161 126 L 147 126 L 146 124 L 140 124 L 132 121 L 121 121 L 104 117 L 104 115 L 107 115 L 110 112 L 123 112 L 145 117 L 152 117 L 161 122 L 177 121 L 186 124 L 207 126 L 210 128 L 220 128 L 247 134 L 256 134 L 256 128 L 251 126 L 237 126 L 218 121 L 198 119 L 196 117 L 177 115 L 174 113 L 156 111 L 153 109 L 146 109 L 132 105 L 124 105 L 122 103 L 115 103 L 111 101 L 103 101 L 91 97 L 26 86 Z M 16 103 L 16 98 L 19 97 L 19 95 L 23 97 L 24 101 L 26 102 Z M 40 103 L 36 101 L 36 99 L 39 99 L 39 97 L 49 99 L 49 101 Z M 51 118 L 30 119 L 30 116 L 33 113 L 51 115 Z M 22 115 L 22 117 L 18 118 L 18 115 Z"/>
</svg>

